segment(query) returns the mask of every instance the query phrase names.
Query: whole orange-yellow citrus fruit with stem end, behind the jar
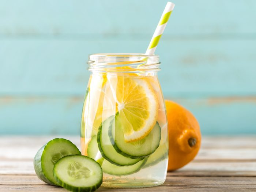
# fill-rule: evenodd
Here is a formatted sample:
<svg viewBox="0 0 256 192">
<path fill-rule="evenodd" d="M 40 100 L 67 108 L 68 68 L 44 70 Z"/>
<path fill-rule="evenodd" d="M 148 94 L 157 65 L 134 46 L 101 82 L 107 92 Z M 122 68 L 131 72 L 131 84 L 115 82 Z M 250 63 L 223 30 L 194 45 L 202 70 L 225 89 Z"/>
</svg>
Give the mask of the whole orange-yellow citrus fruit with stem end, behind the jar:
<svg viewBox="0 0 256 192">
<path fill-rule="evenodd" d="M 201 144 L 200 126 L 187 109 L 165 100 L 169 129 L 168 171 L 183 167 L 196 156 Z"/>
</svg>

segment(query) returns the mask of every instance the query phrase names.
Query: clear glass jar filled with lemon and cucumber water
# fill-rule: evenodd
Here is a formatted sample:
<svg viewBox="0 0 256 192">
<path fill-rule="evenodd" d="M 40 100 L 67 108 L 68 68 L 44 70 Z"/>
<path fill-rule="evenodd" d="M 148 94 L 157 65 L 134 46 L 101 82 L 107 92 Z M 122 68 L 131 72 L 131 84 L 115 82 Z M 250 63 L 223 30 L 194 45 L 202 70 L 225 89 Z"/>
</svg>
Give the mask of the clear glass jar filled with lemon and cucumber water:
<svg viewBox="0 0 256 192">
<path fill-rule="evenodd" d="M 82 154 L 103 187 L 150 187 L 166 179 L 168 128 L 159 56 L 91 54 L 81 122 Z"/>
</svg>

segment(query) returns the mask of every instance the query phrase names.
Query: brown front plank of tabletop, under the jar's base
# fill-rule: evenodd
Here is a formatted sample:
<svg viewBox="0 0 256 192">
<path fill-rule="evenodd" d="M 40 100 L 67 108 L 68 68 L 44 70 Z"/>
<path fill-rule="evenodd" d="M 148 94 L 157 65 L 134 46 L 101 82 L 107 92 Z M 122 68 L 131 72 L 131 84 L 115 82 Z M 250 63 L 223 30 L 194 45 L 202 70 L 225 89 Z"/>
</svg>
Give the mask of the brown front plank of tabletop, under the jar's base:
<svg viewBox="0 0 256 192">
<path fill-rule="evenodd" d="M 37 176 L 0 176 L 1 191 L 63 191 L 40 181 Z M 160 186 L 139 189 L 99 188 L 97 191 L 255 191 L 255 177 L 171 177 Z"/>
</svg>

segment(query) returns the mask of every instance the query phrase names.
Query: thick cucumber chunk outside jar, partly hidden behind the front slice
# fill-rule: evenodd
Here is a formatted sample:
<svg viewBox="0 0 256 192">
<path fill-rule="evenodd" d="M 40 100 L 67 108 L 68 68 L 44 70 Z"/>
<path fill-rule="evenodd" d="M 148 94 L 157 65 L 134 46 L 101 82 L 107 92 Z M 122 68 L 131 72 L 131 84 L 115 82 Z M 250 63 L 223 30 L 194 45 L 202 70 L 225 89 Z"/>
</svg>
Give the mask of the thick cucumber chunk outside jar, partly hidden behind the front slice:
<svg viewBox="0 0 256 192">
<path fill-rule="evenodd" d="M 67 139 L 53 139 L 42 146 L 34 157 L 34 169 L 38 178 L 50 185 L 58 185 L 53 177 L 53 166 L 62 157 L 78 154 L 79 149 Z"/>
</svg>

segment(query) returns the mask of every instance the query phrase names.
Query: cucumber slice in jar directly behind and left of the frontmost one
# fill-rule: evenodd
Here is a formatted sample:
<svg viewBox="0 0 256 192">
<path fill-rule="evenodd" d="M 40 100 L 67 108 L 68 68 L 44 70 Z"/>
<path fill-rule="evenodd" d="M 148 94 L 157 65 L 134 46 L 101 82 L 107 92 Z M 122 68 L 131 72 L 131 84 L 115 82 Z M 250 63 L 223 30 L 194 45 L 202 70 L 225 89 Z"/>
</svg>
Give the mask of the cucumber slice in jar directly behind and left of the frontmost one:
<svg viewBox="0 0 256 192">
<path fill-rule="evenodd" d="M 97 143 L 102 157 L 117 166 L 133 165 L 141 161 L 143 158 L 131 159 L 116 152 L 108 135 L 109 127 L 115 124 L 114 122 L 114 116 L 110 116 L 103 121 L 102 125 L 99 127 Z"/>
</svg>

